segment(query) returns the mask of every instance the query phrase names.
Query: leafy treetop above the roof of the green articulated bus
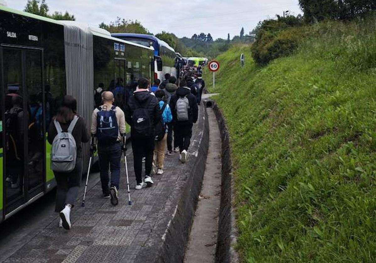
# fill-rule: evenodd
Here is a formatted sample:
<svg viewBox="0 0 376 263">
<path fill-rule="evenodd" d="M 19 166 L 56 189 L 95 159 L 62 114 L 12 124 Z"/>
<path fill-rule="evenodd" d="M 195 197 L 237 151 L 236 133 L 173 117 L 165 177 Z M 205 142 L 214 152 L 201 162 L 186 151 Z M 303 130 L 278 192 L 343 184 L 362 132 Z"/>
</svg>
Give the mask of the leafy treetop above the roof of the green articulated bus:
<svg viewBox="0 0 376 263">
<path fill-rule="evenodd" d="M 117 17 L 115 21 L 111 21 L 109 24 L 102 22 L 99 24 L 99 27 L 111 33 L 150 34 L 139 21 L 125 20 L 120 17 Z"/>
</svg>

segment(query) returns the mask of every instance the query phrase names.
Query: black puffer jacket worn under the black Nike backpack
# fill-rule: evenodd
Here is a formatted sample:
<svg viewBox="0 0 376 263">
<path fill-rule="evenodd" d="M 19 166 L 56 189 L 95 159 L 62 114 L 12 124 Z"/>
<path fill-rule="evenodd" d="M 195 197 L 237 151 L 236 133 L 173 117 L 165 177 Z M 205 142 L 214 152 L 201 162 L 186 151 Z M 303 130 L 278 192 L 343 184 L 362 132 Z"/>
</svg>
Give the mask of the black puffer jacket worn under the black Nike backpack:
<svg viewBox="0 0 376 263">
<path fill-rule="evenodd" d="M 147 104 L 147 105 L 146 105 Z M 125 120 L 131 125 L 130 132 L 132 133 L 132 115 L 133 111 L 141 105 L 146 107 L 150 114 L 150 120 L 153 123 L 153 127 L 161 119 L 161 110 L 159 109 L 158 99 L 151 95 L 148 91 L 136 91 L 133 92 L 133 96 L 130 96 L 125 108 Z"/>
</svg>

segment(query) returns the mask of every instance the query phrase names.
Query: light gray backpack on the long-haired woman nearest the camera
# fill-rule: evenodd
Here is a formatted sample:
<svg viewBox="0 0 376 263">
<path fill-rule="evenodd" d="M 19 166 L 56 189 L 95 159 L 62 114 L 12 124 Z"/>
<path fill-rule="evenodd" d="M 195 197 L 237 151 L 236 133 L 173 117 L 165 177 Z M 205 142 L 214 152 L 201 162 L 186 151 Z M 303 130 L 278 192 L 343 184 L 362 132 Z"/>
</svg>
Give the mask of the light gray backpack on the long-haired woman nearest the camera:
<svg viewBox="0 0 376 263">
<path fill-rule="evenodd" d="M 53 139 L 51 149 L 51 168 L 54 172 L 69 173 L 76 167 L 77 145 L 72 131 L 76 126 L 78 116 L 71 121 L 68 132 L 63 132 L 58 121 L 54 120 L 58 135 Z"/>
</svg>

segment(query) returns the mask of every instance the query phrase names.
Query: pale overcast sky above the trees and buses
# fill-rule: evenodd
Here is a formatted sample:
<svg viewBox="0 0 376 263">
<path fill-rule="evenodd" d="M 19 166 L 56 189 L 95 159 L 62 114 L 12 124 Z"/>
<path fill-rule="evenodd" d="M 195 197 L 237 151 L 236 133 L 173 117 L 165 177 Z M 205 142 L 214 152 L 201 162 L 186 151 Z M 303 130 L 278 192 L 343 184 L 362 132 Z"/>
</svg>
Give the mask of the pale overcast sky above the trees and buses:
<svg viewBox="0 0 376 263">
<path fill-rule="evenodd" d="M 5 0 L 9 7 L 23 10 L 27 0 Z M 121 17 L 138 20 L 151 33 L 162 30 L 178 37 L 211 33 L 214 39 L 247 34 L 260 20 L 289 10 L 300 14 L 298 0 L 46 0 L 50 13 L 68 11 L 76 21 L 98 26 Z"/>
</svg>

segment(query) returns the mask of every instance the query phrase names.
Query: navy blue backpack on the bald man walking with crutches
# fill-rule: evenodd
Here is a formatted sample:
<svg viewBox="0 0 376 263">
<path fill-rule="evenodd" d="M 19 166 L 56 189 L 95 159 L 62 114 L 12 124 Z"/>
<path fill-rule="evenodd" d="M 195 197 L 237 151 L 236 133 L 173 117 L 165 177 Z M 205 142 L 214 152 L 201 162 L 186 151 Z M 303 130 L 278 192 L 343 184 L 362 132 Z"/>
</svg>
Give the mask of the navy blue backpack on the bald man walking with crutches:
<svg viewBox="0 0 376 263">
<path fill-rule="evenodd" d="M 97 113 L 97 139 L 98 144 L 114 144 L 117 141 L 119 128 L 116 120 L 116 106 L 111 110 L 102 110 Z"/>
</svg>

